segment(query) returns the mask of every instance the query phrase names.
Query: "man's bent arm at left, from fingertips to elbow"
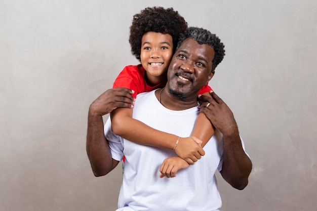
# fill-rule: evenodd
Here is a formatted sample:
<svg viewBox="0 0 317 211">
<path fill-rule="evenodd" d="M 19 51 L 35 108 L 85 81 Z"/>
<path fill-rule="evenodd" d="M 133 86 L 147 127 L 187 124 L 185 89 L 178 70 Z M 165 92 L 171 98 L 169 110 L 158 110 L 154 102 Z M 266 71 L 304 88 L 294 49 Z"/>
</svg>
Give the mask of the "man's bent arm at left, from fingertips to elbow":
<svg viewBox="0 0 317 211">
<path fill-rule="evenodd" d="M 117 107 L 133 104 L 131 90 L 110 89 L 100 95 L 89 107 L 87 129 L 87 155 L 96 177 L 108 174 L 119 161 L 112 159 L 109 144 L 104 136 L 102 116 Z"/>
</svg>

